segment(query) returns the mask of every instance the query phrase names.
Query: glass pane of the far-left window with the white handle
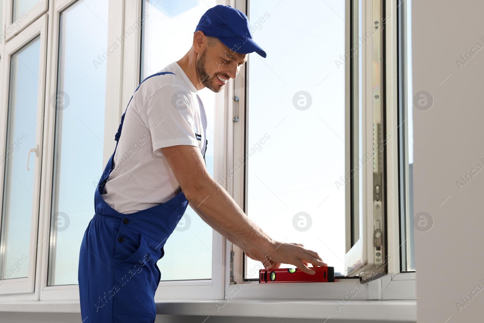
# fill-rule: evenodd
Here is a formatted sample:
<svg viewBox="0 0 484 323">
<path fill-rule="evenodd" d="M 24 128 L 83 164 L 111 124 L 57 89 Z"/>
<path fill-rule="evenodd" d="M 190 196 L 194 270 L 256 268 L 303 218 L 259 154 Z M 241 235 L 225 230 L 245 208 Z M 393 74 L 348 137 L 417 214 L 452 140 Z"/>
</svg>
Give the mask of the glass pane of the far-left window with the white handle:
<svg viewBox="0 0 484 323">
<path fill-rule="evenodd" d="M 8 102 L 7 149 L 0 241 L 0 278 L 27 277 L 30 254 L 30 221 L 36 212 L 34 154 L 39 92 L 40 36 L 12 55 Z M 17 261 L 22 262 L 18 265 Z M 18 263 L 20 263 L 18 262 Z"/>
</svg>

